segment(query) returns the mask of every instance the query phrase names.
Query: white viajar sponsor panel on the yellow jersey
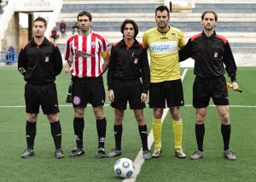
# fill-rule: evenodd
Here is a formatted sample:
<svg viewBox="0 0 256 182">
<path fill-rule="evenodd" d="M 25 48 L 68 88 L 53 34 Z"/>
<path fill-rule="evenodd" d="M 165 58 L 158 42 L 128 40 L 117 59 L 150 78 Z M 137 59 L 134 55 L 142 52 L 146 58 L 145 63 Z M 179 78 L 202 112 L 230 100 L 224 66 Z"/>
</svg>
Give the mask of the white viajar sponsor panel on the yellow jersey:
<svg viewBox="0 0 256 182">
<path fill-rule="evenodd" d="M 177 41 L 150 43 L 153 54 L 167 54 L 177 51 Z"/>
</svg>

